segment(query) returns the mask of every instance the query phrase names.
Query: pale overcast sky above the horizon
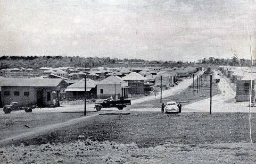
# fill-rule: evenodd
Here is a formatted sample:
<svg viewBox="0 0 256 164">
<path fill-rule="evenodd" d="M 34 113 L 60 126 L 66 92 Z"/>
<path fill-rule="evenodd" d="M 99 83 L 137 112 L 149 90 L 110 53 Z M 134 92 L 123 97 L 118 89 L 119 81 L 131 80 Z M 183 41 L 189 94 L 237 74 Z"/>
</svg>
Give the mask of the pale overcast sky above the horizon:
<svg viewBox="0 0 256 164">
<path fill-rule="evenodd" d="M 0 0 L 0 55 L 249 58 L 249 20 L 254 44 L 254 0 Z"/>
</svg>

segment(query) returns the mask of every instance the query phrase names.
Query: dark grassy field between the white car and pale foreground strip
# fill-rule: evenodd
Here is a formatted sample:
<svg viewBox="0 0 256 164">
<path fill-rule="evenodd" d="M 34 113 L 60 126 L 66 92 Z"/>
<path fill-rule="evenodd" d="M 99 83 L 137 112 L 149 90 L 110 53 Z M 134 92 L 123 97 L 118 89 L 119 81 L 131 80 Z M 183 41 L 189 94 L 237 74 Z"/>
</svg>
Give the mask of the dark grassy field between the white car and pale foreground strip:
<svg viewBox="0 0 256 164">
<path fill-rule="evenodd" d="M 25 145 L 69 143 L 77 140 L 136 143 L 139 147 L 165 143 L 204 144 L 250 142 L 246 113 L 162 114 L 131 111 L 130 115 L 97 115 L 37 137 L 13 141 Z M 256 140 L 256 114 L 252 114 L 252 138 Z M 83 137 L 81 137 L 83 136 Z"/>
</svg>

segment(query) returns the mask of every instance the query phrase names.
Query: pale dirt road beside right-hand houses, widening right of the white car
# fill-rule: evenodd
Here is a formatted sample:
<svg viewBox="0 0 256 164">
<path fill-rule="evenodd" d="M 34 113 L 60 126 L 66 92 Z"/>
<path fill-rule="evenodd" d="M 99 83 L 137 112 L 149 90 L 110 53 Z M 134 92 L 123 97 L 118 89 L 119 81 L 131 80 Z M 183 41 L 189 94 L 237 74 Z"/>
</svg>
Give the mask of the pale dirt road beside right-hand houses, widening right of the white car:
<svg viewBox="0 0 256 164">
<path fill-rule="evenodd" d="M 220 79 L 218 87 L 221 93 L 212 97 L 212 112 L 249 112 L 249 102 L 235 102 L 236 93 L 228 80 L 217 75 L 217 72 L 213 76 L 213 79 L 215 78 Z M 190 103 L 183 108 L 183 111 L 188 112 L 209 112 L 209 110 L 210 98 Z M 256 112 L 255 107 L 252 107 L 252 112 Z"/>
</svg>

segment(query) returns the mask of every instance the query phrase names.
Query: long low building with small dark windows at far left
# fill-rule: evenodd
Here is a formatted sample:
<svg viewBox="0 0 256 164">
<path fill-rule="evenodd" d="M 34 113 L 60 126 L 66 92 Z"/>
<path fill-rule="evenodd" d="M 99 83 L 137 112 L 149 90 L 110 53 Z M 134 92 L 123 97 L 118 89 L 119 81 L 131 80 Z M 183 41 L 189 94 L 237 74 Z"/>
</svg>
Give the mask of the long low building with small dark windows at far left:
<svg viewBox="0 0 256 164">
<path fill-rule="evenodd" d="M 20 106 L 59 106 L 60 93 L 67 86 L 63 79 L 6 78 L 0 81 L 2 105 L 16 101 Z"/>
</svg>

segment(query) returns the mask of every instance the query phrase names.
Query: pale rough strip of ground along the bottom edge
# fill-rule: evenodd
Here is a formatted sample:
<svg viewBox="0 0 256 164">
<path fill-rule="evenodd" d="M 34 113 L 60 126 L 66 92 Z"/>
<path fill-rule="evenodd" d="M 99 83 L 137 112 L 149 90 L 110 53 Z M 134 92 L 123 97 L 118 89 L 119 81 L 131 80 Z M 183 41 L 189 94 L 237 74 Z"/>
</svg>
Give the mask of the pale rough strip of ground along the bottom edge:
<svg viewBox="0 0 256 164">
<path fill-rule="evenodd" d="M 0 149 L 0 163 L 255 163 L 255 152 L 249 143 L 168 143 L 138 148 L 135 143 L 77 141 L 8 146 Z"/>
</svg>

